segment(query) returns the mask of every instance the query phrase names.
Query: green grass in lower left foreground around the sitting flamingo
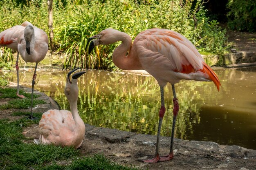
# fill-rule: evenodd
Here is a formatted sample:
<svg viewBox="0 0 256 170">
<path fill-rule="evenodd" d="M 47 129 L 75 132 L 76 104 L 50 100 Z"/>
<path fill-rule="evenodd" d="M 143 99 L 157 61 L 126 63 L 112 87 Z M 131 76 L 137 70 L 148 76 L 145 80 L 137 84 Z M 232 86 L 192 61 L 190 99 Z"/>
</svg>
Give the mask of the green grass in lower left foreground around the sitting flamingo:
<svg viewBox="0 0 256 170">
<path fill-rule="evenodd" d="M 15 115 L 26 115 L 17 112 Z M 40 117 L 41 113 L 36 113 Z M 28 140 L 22 135 L 24 127 L 35 123 L 27 119 L 9 121 L 0 119 L 0 169 L 4 170 L 138 170 L 121 166 L 110 161 L 104 155 L 84 157 L 72 147 L 37 145 L 25 143 Z M 38 122 L 37 122 L 38 123 Z M 67 160 L 70 164 L 59 165 Z"/>
</svg>

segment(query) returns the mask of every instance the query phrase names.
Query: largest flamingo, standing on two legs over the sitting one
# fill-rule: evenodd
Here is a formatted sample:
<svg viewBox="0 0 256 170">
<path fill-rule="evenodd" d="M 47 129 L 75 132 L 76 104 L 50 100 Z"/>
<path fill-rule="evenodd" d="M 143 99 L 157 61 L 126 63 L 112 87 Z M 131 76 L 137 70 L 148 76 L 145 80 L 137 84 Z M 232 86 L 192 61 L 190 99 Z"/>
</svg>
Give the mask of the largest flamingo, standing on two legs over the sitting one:
<svg viewBox="0 0 256 170">
<path fill-rule="evenodd" d="M 93 40 L 94 39 L 94 40 Z M 91 42 L 90 42 L 91 41 Z M 115 29 L 105 29 L 89 38 L 90 54 L 94 46 L 108 45 L 117 41 L 122 43 L 113 52 L 114 64 L 123 70 L 145 70 L 155 77 L 161 92 L 161 108 L 159 110 L 159 124 L 155 157 L 142 160 L 145 163 L 168 161 L 173 159 L 173 136 L 175 121 L 179 111 L 179 102 L 176 97 L 174 84 L 181 79 L 195 81 L 213 81 L 220 90 L 220 80 L 213 70 L 204 62 L 195 46 L 180 33 L 168 29 L 148 29 L 137 35 L 134 42 L 130 36 Z M 126 55 L 128 51 L 128 55 Z M 170 153 L 159 157 L 158 146 L 165 113 L 164 86 L 171 83 L 173 90 L 173 127 L 171 133 Z"/>
</svg>

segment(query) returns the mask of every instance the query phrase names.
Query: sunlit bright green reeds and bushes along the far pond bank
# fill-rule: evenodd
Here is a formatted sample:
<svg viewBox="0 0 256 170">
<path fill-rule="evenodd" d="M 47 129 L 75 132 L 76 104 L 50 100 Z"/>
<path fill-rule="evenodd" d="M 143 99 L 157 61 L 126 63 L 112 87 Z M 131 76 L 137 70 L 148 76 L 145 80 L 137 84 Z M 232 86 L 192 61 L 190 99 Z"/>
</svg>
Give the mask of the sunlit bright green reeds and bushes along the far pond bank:
<svg viewBox="0 0 256 170">
<path fill-rule="evenodd" d="M 48 32 L 46 3 L 40 4 L 40 0 L 35 0 L 37 3 L 21 7 L 7 3 L 9 1 L 0 2 L 0 22 L 4 23 L 0 25 L 0 31 L 28 20 Z M 90 36 L 108 27 L 128 33 L 133 40 L 146 29 L 171 29 L 184 35 L 198 49 L 213 53 L 225 50 L 225 30 L 222 31 L 216 21 L 206 17 L 202 0 L 54 0 L 53 8 L 52 50 L 63 57 L 64 68 L 115 69 L 111 56 L 121 42 L 97 46 L 91 55 L 85 49 Z"/>
</svg>

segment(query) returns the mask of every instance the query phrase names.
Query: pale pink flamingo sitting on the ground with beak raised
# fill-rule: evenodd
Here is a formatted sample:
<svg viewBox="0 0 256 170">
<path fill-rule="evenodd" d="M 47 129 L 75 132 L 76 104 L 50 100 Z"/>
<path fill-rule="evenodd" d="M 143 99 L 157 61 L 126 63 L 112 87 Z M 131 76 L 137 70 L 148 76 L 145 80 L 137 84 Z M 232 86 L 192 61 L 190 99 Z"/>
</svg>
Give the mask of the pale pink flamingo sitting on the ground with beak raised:
<svg viewBox="0 0 256 170">
<path fill-rule="evenodd" d="M 65 96 L 70 103 L 70 111 L 68 110 L 48 110 L 43 113 L 42 119 L 39 121 L 39 143 L 54 144 L 56 146 L 74 146 L 79 148 L 83 142 L 85 135 L 85 124 L 79 116 L 77 110 L 78 85 L 77 79 L 85 73 L 85 71 L 70 75 L 79 68 L 70 71 L 67 75 L 67 83 L 65 87 Z"/>
</svg>

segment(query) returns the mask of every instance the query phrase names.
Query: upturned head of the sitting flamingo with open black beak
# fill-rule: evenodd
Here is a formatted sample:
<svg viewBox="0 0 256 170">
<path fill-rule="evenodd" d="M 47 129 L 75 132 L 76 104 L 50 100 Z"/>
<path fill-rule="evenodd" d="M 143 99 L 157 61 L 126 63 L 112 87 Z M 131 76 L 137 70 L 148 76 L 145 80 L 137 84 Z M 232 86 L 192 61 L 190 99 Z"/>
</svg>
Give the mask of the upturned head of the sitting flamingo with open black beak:
<svg viewBox="0 0 256 170">
<path fill-rule="evenodd" d="M 66 86 L 65 86 L 65 96 L 67 97 L 67 99 L 69 101 L 72 101 L 74 99 L 76 99 L 78 97 L 78 85 L 77 85 L 77 79 L 83 75 L 85 73 L 85 71 L 81 71 L 81 72 L 78 72 L 78 73 L 75 73 L 74 75 L 72 75 L 72 79 L 70 80 L 70 75 L 78 70 L 79 68 L 76 68 L 72 71 L 70 71 L 68 74 L 67 74 L 67 82 L 66 82 Z"/>
</svg>

